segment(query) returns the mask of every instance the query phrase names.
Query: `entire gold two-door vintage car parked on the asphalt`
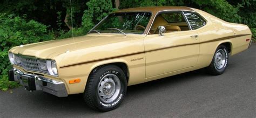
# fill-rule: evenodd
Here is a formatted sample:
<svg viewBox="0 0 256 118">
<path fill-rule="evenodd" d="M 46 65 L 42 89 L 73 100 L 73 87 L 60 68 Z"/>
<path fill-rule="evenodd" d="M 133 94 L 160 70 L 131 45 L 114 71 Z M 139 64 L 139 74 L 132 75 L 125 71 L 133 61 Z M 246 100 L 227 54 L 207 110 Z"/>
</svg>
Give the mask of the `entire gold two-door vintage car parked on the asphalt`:
<svg viewBox="0 0 256 118">
<path fill-rule="evenodd" d="M 11 48 L 10 81 L 59 97 L 83 93 L 108 111 L 126 88 L 188 71 L 224 73 L 229 55 L 250 47 L 248 26 L 176 6 L 131 8 L 106 16 L 86 36 Z"/>
</svg>

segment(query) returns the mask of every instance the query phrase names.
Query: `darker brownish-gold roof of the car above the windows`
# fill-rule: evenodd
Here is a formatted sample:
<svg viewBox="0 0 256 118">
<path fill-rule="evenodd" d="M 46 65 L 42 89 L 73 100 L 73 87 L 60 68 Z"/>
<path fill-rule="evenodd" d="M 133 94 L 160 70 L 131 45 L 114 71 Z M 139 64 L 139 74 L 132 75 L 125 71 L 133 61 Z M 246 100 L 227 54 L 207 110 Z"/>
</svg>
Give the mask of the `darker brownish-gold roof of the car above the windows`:
<svg viewBox="0 0 256 118">
<path fill-rule="evenodd" d="M 186 6 L 149 6 L 149 7 L 123 9 L 123 10 L 118 10 L 116 12 L 149 11 L 149 12 L 157 13 L 159 11 L 165 11 L 165 10 L 193 11 L 193 12 L 195 12 L 192 8 L 188 8 Z"/>
</svg>

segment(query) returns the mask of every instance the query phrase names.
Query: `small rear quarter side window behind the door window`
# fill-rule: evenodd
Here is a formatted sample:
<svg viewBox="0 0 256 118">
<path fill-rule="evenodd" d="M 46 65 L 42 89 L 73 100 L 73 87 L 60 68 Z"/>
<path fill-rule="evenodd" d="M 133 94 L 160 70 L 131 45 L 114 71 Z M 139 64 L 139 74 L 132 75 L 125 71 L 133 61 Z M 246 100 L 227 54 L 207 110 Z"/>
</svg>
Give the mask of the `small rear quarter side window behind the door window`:
<svg viewBox="0 0 256 118">
<path fill-rule="evenodd" d="M 192 30 L 197 30 L 206 24 L 205 20 L 196 13 L 185 12 L 185 15 Z"/>
</svg>

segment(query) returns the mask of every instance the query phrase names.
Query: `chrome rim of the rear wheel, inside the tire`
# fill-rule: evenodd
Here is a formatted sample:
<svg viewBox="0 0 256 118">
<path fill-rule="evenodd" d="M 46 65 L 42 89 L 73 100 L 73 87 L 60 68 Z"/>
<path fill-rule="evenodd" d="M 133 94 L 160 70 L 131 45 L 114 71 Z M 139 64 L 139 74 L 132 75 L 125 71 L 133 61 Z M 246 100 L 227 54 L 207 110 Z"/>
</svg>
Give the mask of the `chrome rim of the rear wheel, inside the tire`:
<svg viewBox="0 0 256 118">
<path fill-rule="evenodd" d="M 224 67 L 225 63 L 226 63 L 226 53 L 223 49 L 219 49 L 216 53 L 215 53 L 215 67 L 220 70 L 221 68 Z"/>
</svg>

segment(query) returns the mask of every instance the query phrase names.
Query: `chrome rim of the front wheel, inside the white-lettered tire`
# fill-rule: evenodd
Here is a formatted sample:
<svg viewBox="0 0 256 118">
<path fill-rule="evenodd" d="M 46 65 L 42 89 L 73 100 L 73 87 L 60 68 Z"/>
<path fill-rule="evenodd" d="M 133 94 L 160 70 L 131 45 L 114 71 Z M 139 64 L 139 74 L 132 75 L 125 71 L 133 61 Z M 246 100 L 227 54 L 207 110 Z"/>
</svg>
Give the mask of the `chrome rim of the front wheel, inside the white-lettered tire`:
<svg viewBox="0 0 256 118">
<path fill-rule="evenodd" d="M 117 75 L 106 74 L 99 81 L 98 96 L 102 102 L 111 103 L 118 98 L 121 82 Z"/>
</svg>

